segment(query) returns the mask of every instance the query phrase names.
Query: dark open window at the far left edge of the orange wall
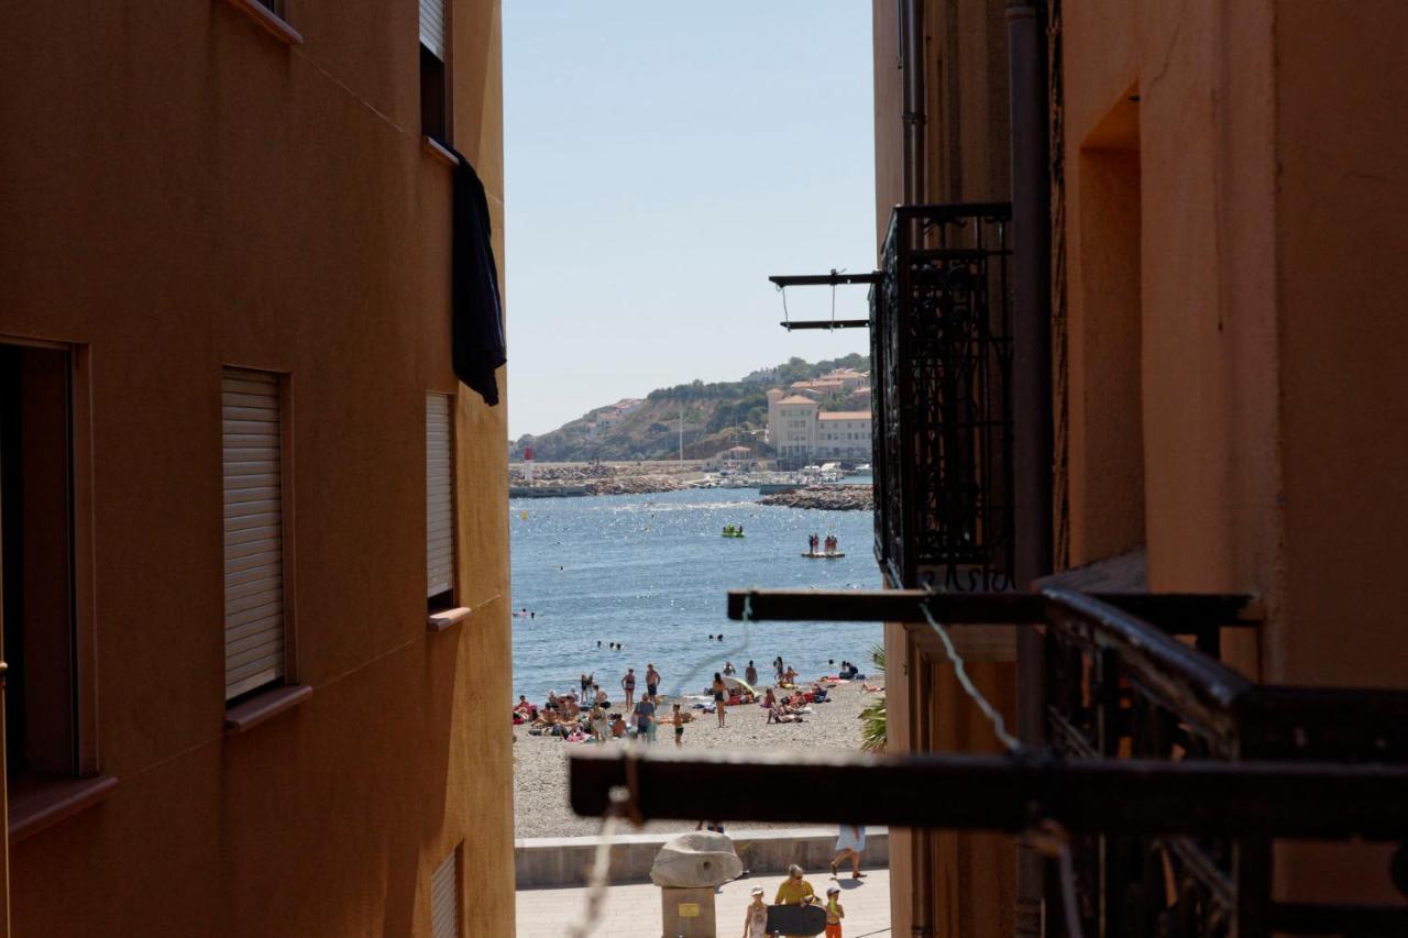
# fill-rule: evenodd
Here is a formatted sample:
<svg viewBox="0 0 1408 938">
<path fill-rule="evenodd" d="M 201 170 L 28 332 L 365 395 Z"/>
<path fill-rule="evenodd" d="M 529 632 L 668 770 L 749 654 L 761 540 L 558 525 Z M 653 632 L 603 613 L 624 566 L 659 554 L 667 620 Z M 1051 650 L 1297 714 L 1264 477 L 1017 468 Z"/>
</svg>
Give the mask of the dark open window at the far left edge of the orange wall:
<svg viewBox="0 0 1408 938">
<path fill-rule="evenodd" d="M 77 773 L 70 375 L 68 352 L 0 345 L 0 614 L 11 780 Z"/>
</svg>

